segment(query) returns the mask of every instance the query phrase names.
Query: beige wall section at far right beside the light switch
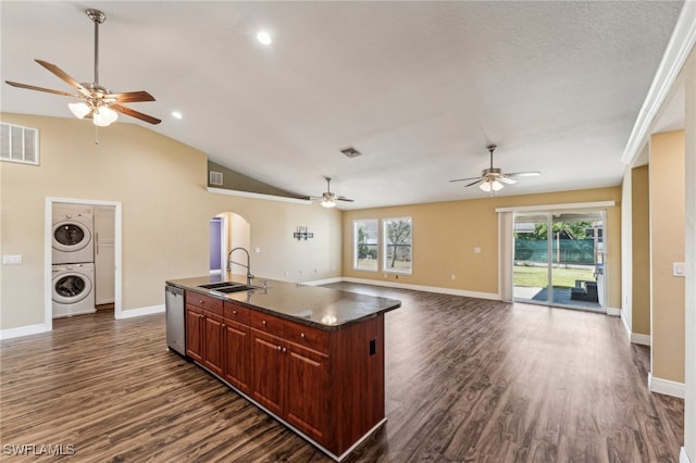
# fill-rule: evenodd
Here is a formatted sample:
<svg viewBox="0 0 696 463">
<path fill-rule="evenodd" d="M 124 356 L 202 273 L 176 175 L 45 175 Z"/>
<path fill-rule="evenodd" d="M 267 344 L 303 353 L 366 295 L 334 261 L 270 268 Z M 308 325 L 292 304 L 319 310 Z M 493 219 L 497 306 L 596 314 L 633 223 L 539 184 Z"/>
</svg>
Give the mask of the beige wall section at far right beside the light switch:
<svg viewBox="0 0 696 463">
<path fill-rule="evenodd" d="M 651 374 L 684 383 L 684 132 L 650 138 Z"/>
</svg>

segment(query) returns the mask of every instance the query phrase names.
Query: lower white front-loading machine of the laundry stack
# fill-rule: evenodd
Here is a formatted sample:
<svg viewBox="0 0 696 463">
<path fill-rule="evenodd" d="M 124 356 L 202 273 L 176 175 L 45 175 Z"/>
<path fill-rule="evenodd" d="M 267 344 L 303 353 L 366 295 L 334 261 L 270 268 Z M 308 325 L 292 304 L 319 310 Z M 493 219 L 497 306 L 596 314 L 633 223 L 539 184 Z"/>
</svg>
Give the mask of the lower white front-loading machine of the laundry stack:
<svg viewBox="0 0 696 463">
<path fill-rule="evenodd" d="M 53 318 L 94 313 L 95 264 L 52 265 Z"/>
</svg>

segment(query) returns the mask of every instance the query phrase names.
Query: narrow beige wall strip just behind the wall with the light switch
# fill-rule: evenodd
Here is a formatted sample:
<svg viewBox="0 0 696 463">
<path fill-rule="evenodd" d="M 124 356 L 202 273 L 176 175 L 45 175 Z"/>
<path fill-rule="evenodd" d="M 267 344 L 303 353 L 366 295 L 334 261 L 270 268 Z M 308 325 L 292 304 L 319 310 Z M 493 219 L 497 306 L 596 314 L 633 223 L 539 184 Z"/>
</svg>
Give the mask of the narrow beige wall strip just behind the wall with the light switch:
<svg viewBox="0 0 696 463">
<path fill-rule="evenodd" d="M 631 171 L 631 252 L 632 326 L 631 331 L 650 334 L 650 209 L 648 166 Z"/>
</svg>

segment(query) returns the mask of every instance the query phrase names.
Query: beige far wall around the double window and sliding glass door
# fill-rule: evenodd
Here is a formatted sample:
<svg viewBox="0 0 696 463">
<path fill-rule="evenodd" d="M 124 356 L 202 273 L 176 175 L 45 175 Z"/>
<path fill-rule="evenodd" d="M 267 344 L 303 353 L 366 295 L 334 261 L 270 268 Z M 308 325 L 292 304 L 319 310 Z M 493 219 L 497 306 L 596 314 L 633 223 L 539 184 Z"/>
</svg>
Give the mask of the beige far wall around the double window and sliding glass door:
<svg viewBox="0 0 696 463">
<path fill-rule="evenodd" d="M 394 281 L 396 275 L 352 268 L 352 221 L 413 217 L 413 274 L 398 283 L 472 292 L 498 293 L 498 215 L 496 208 L 616 201 L 607 211 L 608 305 L 621 306 L 621 188 L 561 191 L 545 195 L 483 197 L 467 201 L 414 204 L 344 212 L 343 274 L 346 277 Z M 474 253 L 474 247 L 481 253 Z M 382 262 L 380 261 L 380 265 Z M 456 280 L 451 275 L 457 276 Z"/>
</svg>

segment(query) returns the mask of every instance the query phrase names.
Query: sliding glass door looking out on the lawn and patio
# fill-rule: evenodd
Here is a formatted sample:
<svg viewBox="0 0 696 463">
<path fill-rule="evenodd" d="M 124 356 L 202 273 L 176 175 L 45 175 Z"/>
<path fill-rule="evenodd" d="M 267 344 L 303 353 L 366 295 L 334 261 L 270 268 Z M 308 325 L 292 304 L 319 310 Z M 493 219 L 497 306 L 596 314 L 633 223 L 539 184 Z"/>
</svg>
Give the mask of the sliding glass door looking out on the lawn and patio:
<svg viewBox="0 0 696 463">
<path fill-rule="evenodd" d="M 514 214 L 515 301 L 604 311 L 605 213 Z"/>
</svg>

